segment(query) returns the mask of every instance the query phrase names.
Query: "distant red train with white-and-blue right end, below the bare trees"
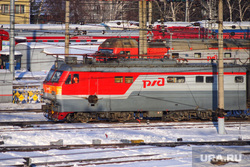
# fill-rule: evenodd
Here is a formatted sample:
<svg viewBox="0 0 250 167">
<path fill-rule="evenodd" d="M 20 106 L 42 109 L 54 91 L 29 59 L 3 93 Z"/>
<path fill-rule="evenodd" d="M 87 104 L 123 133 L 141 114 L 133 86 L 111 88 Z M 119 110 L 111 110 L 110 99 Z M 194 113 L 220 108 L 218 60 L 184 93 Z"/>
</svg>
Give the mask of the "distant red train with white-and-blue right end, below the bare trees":
<svg viewBox="0 0 250 167">
<path fill-rule="evenodd" d="M 217 39 L 218 24 L 207 21 L 165 22 L 155 24 L 152 40 Z M 223 22 L 224 39 L 250 39 L 250 22 Z"/>
</svg>

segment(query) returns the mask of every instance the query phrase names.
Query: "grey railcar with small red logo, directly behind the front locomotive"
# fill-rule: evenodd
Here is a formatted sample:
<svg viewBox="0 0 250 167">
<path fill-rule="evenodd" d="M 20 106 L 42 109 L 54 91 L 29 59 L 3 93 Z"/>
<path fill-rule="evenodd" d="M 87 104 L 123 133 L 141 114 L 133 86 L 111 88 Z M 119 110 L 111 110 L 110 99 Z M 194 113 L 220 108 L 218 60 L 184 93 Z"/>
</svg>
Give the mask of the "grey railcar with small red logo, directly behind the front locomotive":
<svg viewBox="0 0 250 167">
<path fill-rule="evenodd" d="M 225 64 L 249 63 L 249 40 L 224 39 L 223 60 Z M 180 63 L 211 63 L 218 59 L 218 40 L 174 40 L 167 43 L 171 50 L 167 56 Z"/>
</svg>

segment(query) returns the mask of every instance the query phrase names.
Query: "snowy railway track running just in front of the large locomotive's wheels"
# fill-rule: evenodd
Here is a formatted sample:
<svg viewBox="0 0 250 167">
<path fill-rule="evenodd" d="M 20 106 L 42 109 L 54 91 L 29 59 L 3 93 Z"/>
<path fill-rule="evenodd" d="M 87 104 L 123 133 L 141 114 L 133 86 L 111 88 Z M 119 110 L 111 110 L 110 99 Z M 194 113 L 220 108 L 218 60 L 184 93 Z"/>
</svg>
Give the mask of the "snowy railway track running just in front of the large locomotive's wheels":
<svg viewBox="0 0 250 167">
<path fill-rule="evenodd" d="M 43 126 L 46 125 L 46 126 Z M 51 126 L 48 126 L 51 125 Z M 58 125 L 58 127 L 57 127 Z M 64 127 L 62 127 L 62 125 Z M 67 125 L 69 125 L 67 127 Z M 70 125 L 76 125 L 78 127 L 72 127 Z M 60 124 L 51 121 L 27 121 L 27 122 L 0 122 L 0 132 L 21 132 L 21 131 L 68 131 L 68 130 L 96 130 L 96 129 L 192 129 L 194 128 L 211 128 L 218 126 L 217 122 L 203 122 L 203 123 L 167 123 L 167 124 L 112 124 L 114 126 L 84 126 L 85 124 L 81 123 L 70 123 L 70 124 Z M 108 124 L 110 125 L 110 124 Z M 13 126 L 4 128 L 4 126 Z M 15 126 L 21 127 L 15 128 Z M 245 127 L 250 126 L 249 122 L 226 122 L 225 127 Z"/>
</svg>

